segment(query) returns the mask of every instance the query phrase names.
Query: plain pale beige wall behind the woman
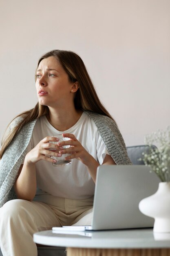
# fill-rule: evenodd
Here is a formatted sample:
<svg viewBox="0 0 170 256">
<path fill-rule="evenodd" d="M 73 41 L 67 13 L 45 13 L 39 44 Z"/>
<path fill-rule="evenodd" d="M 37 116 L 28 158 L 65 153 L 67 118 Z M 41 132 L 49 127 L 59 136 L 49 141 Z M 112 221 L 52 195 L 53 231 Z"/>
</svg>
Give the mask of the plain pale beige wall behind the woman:
<svg viewBox="0 0 170 256">
<path fill-rule="evenodd" d="M 51 49 L 77 52 L 127 146 L 170 124 L 170 0 L 0 0 L 0 134 Z"/>
</svg>

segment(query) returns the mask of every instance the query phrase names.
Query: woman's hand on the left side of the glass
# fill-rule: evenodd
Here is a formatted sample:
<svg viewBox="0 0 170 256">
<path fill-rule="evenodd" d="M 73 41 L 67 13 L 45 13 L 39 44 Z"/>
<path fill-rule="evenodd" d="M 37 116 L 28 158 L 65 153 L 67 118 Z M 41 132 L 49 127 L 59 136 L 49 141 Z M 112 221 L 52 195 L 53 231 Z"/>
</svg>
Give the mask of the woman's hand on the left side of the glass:
<svg viewBox="0 0 170 256">
<path fill-rule="evenodd" d="M 50 143 L 51 141 L 54 141 L 55 144 Z M 26 161 L 27 164 L 35 164 L 40 160 L 56 162 L 51 156 L 60 157 L 61 153 L 59 153 L 59 150 L 62 149 L 62 147 L 59 147 L 56 144 L 57 141 L 59 141 L 59 139 L 56 137 L 45 137 L 37 144 L 37 146 L 26 154 L 24 161 Z"/>
</svg>

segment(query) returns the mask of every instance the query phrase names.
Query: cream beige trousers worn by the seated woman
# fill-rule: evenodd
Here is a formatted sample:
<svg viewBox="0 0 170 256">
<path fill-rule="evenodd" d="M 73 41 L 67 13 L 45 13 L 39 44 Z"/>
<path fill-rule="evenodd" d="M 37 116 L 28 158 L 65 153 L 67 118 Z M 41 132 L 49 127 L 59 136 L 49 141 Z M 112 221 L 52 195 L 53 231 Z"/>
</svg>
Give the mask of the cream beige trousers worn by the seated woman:
<svg viewBox="0 0 170 256">
<path fill-rule="evenodd" d="M 29 202 L 11 200 L 0 208 L 0 248 L 3 256 L 37 256 L 33 234 L 64 225 L 91 225 L 93 198 L 71 200 L 51 195 Z"/>
</svg>

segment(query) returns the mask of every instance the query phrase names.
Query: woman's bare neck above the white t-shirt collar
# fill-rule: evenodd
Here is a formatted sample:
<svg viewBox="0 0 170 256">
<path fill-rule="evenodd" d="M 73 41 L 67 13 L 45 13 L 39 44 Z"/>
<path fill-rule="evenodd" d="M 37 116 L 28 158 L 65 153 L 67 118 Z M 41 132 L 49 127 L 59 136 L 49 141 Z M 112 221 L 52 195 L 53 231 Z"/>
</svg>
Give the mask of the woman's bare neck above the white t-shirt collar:
<svg viewBox="0 0 170 256">
<path fill-rule="evenodd" d="M 82 110 L 76 109 L 72 111 L 61 110 L 60 112 L 49 109 L 49 113 L 46 115 L 46 118 L 55 129 L 64 131 L 77 123 L 82 112 Z"/>
</svg>

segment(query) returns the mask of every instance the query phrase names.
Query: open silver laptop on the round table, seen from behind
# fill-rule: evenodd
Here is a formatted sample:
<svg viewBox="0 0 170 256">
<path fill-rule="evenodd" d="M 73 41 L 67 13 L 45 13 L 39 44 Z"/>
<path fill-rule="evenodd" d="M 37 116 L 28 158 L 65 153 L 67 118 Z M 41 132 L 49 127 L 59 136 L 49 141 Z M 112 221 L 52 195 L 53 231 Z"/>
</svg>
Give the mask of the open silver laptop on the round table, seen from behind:
<svg viewBox="0 0 170 256">
<path fill-rule="evenodd" d="M 83 231 L 153 227 L 154 219 L 139 211 L 139 202 L 155 193 L 160 182 L 144 165 L 102 165 L 97 182 L 91 226 L 53 227 Z"/>
</svg>

